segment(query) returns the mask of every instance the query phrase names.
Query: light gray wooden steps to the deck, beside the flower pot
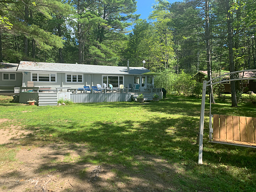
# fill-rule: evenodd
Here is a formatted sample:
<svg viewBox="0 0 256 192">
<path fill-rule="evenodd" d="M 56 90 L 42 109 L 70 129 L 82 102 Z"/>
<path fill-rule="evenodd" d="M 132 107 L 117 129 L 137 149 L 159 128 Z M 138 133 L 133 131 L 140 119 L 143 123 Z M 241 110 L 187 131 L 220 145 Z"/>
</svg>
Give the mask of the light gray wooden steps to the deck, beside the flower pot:
<svg viewBox="0 0 256 192">
<path fill-rule="evenodd" d="M 57 93 L 38 93 L 38 106 L 58 105 Z"/>
</svg>

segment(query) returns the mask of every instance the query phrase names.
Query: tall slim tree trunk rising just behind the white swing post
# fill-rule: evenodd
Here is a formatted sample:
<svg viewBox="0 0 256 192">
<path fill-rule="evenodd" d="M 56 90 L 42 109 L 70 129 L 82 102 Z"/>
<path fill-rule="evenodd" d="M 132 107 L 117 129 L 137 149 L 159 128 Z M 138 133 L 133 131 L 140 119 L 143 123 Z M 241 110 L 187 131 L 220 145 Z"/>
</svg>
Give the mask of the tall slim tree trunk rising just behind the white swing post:
<svg viewBox="0 0 256 192">
<path fill-rule="evenodd" d="M 208 81 L 212 80 L 212 66 L 211 66 L 211 45 L 210 45 L 210 30 L 209 30 L 209 0 L 205 0 L 205 40 L 206 40 L 206 61 Z M 208 87 L 209 98 L 212 103 L 215 103 L 212 91 L 212 85 Z"/>
</svg>

